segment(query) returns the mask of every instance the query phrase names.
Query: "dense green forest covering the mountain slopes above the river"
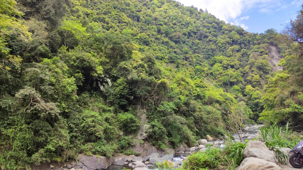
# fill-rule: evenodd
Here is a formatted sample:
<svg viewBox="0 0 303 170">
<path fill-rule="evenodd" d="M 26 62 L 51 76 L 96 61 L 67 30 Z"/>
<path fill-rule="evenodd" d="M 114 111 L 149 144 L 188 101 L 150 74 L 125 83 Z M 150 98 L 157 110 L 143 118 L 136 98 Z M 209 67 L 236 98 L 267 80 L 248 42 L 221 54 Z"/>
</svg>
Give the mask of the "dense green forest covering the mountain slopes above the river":
<svg viewBox="0 0 303 170">
<path fill-rule="evenodd" d="M 302 126 L 302 20 L 258 34 L 173 0 L 1 0 L 0 165 L 191 146 L 229 115 Z"/>
</svg>

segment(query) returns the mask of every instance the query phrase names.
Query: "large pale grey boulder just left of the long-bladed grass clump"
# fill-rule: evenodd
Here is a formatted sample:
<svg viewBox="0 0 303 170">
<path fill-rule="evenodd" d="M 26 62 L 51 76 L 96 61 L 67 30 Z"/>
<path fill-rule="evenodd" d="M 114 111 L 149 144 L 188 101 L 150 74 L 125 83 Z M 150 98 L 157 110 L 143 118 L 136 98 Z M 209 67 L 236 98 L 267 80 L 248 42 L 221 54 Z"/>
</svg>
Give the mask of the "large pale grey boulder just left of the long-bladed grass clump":
<svg viewBox="0 0 303 170">
<path fill-rule="evenodd" d="M 278 163 L 275 153 L 270 151 L 263 142 L 251 140 L 247 143 L 244 151 L 244 158 L 255 157 L 265 161 Z"/>
</svg>

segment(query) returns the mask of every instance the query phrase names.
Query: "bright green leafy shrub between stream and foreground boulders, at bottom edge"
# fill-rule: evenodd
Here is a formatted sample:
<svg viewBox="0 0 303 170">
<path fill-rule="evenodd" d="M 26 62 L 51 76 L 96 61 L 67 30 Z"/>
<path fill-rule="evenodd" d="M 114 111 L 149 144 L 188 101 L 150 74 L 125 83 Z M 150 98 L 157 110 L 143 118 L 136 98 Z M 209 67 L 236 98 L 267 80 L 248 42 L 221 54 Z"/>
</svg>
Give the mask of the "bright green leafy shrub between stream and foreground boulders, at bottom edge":
<svg viewBox="0 0 303 170">
<path fill-rule="evenodd" d="M 205 152 L 198 151 L 188 156 L 188 160 L 183 163 L 182 169 L 219 169 L 220 165 L 224 165 L 225 158 L 223 150 L 217 148 L 208 148 Z"/>
</svg>

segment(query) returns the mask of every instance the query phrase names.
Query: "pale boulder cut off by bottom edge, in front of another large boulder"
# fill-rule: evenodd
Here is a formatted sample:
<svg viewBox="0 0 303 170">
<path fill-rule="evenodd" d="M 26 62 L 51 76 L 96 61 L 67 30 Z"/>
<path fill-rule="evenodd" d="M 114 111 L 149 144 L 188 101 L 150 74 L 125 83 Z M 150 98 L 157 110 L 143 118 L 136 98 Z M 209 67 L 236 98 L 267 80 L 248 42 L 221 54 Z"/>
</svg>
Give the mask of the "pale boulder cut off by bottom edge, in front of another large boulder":
<svg viewBox="0 0 303 170">
<path fill-rule="evenodd" d="M 236 170 L 282 170 L 279 165 L 259 158 L 245 158 Z"/>
</svg>

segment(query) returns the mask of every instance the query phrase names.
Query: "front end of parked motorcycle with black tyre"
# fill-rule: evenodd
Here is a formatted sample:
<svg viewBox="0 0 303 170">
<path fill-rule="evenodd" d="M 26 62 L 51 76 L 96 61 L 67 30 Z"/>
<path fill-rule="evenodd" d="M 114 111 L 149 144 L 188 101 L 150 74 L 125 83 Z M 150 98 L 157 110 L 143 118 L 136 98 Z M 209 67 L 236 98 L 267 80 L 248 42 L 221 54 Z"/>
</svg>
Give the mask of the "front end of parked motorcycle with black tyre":
<svg viewBox="0 0 303 170">
<path fill-rule="evenodd" d="M 290 152 L 294 152 L 294 154 L 290 155 L 289 163 L 291 166 L 295 168 L 303 167 L 303 140 L 299 142 Z"/>
</svg>

